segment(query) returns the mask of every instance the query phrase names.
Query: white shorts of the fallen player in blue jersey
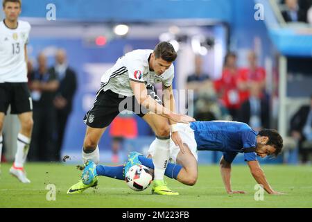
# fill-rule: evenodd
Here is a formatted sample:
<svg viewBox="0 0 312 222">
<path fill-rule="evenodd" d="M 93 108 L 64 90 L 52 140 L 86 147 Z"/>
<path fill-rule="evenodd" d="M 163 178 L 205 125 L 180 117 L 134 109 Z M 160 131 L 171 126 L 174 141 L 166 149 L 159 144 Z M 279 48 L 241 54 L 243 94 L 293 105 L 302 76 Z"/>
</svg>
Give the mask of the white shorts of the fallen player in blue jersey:
<svg viewBox="0 0 312 222">
<path fill-rule="evenodd" d="M 186 123 L 177 123 L 177 131 L 182 139 L 182 142 L 184 144 L 187 144 L 189 146 L 189 150 L 193 154 L 193 156 L 196 158 L 196 161 L 198 161 L 198 155 L 197 155 L 197 144 L 195 140 L 195 135 L 189 124 Z M 155 152 L 155 140 L 152 144 L 150 144 L 150 148 L 148 149 L 148 155 L 152 155 Z M 170 139 L 170 158 L 173 160 L 173 162 L 177 162 L 177 154 L 180 152 L 179 146 L 175 146 L 175 143 L 172 139 Z"/>
</svg>

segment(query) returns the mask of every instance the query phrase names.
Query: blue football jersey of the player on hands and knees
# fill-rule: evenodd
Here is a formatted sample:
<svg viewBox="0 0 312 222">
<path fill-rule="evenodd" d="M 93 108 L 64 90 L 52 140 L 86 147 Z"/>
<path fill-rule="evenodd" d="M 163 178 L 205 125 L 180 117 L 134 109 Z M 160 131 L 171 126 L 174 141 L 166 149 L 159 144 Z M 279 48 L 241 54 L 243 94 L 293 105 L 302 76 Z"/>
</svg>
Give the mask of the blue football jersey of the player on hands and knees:
<svg viewBox="0 0 312 222">
<path fill-rule="evenodd" d="M 198 151 L 221 151 L 227 162 L 233 162 L 238 153 L 245 161 L 257 160 L 254 148 L 257 132 L 246 123 L 235 121 L 196 121 L 191 123 Z"/>
</svg>

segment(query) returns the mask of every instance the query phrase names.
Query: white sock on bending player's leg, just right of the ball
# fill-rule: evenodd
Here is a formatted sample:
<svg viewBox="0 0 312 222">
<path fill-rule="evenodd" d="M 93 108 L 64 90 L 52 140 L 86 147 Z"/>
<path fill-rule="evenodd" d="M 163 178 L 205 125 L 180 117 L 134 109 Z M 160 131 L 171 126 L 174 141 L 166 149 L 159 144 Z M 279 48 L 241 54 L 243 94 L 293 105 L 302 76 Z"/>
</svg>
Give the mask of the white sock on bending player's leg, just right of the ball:
<svg viewBox="0 0 312 222">
<path fill-rule="evenodd" d="M 155 139 L 155 151 L 153 153 L 154 180 L 164 180 L 164 172 L 170 157 L 170 139 Z"/>
</svg>

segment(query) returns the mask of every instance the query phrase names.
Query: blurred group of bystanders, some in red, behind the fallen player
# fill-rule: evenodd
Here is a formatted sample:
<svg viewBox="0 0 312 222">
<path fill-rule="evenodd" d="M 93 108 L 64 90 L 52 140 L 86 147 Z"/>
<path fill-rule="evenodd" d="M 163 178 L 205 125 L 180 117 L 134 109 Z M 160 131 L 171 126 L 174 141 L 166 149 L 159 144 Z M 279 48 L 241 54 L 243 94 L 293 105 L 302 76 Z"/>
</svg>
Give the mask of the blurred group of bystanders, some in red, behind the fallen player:
<svg viewBox="0 0 312 222">
<path fill-rule="evenodd" d="M 222 76 L 211 80 L 202 72 L 202 58 L 196 56 L 195 73 L 187 78 L 187 89 L 194 90 L 194 117 L 200 121 L 243 121 L 256 130 L 268 128 L 266 71 L 257 64 L 253 51 L 248 53 L 248 67 L 236 64 L 236 54 L 227 53 Z"/>
</svg>

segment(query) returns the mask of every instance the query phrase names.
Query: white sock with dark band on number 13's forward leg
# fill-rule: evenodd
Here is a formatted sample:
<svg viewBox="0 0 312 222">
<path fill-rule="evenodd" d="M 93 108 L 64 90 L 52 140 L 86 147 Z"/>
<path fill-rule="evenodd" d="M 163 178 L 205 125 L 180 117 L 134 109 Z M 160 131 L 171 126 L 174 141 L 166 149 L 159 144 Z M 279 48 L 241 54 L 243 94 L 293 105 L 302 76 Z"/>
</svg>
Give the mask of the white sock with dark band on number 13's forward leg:
<svg viewBox="0 0 312 222">
<path fill-rule="evenodd" d="M 21 135 L 17 135 L 17 151 L 15 154 L 15 167 L 24 167 L 26 157 L 29 151 L 29 144 L 31 144 L 31 138 Z"/>
</svg>

